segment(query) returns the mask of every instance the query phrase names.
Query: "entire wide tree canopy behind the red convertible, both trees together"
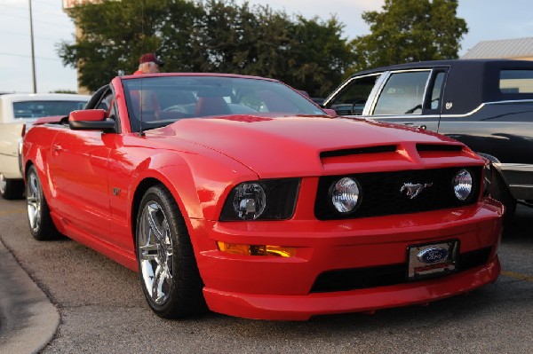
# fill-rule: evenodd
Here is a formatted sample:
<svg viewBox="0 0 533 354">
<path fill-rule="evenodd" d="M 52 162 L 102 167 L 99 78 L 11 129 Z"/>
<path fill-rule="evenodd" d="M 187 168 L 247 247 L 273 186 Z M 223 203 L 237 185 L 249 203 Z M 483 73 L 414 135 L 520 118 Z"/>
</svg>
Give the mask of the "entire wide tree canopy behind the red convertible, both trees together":
<svg viewBox="0 0 533 354">
<path fill-rule="evenodd" d="M 325 96 L 354 64 L 337 19 L 291 19 L 268 5 L 235 0 L 102 0 L 73 8 L 79 28 L 60 43 L 65 65 L 82 86 L 97 90 L 119 70 L 135 71 L 156 52 L 167 72 L 220 72 L 273 77 Z"/>
</svg>

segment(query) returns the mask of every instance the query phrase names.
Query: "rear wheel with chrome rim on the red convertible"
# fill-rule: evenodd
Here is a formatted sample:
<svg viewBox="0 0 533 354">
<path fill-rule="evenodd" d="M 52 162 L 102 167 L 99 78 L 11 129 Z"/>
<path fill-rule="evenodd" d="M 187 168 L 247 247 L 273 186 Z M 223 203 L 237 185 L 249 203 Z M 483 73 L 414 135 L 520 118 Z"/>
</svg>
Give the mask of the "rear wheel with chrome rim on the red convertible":
<svg viewBox="0 0 533 354">
<path fill-rule="evenodd" d="M 29 230 L 36 240 L 52 240 L 60 235 L 50 216 L 48 203 L 35 166 L 30 166 L 27 175 L 26 203 L 28 205 Z"/>
</svg>

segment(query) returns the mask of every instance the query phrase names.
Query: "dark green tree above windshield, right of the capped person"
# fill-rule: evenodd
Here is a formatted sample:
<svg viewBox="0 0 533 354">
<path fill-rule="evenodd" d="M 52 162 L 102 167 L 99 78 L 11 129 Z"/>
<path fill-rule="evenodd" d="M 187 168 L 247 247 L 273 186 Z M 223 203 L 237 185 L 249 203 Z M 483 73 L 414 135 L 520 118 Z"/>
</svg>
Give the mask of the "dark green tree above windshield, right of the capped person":
<svg viewBox="0 0 533 354">
<path fill-rule="evenodd" d="M 273 77 L 324 97 L 353 64 L 341 38 L 344 26 L 335 18 L 290 20 L 268 5 L 223 0 L 208 0 L 202 8 L 192 58 L 201 59 L 203 71 Z"/>
</svg>

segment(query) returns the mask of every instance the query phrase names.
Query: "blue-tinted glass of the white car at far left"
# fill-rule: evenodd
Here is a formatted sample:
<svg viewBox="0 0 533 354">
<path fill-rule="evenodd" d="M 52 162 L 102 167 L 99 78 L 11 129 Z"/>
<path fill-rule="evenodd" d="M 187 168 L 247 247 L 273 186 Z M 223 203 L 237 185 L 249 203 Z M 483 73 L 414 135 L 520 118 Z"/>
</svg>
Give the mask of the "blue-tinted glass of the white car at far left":
<svg viewBox="0 0 533 354">
<path fill-rule="evenodd" d="M 13 102 L 15 118 L 39 118 L 49 115 L 68 115 L 84 109 L 87 101 L 22 101 Z"/>
</svg>

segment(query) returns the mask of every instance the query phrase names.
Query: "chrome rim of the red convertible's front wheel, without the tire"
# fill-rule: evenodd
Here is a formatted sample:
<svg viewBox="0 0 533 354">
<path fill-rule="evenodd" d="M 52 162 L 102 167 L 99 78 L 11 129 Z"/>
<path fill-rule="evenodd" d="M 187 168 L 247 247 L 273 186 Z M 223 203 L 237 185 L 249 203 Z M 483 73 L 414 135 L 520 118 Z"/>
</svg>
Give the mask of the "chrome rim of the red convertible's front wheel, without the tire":
<svg viewBox="0 0 533 354">
<path fill-rule="evenodd" d="M 155 201 L 144 206 L 139 221 L 137 244 L 141 280 L 151 300 L 163 305 L 172 287 L 171 227 L 163 208 Z"/>
</svg>

